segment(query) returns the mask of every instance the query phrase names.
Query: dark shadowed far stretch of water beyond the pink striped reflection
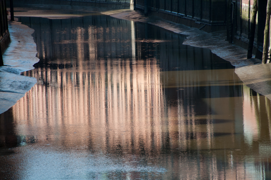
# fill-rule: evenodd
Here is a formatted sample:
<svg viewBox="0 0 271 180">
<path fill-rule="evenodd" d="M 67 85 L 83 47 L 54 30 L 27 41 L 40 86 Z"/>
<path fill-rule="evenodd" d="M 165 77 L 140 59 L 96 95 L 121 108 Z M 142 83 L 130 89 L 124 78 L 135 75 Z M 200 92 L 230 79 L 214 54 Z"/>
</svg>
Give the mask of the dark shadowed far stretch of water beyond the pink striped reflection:
<svg viewBox="0 0 271 180">
<path fill-rule="evenodd" d="M 77 67 L 79 61 L 91 65 L 92 61 L 101 59 L 145 61 L 149 58 L 154 58 L 162 71 L 233 68 L 209 49 L 182 45 L 185 36 L 146 23 L 104 15 L 18 18 L 35 30 L 33 36 L 40 58 L 36 68 Z"/>
</svg>

